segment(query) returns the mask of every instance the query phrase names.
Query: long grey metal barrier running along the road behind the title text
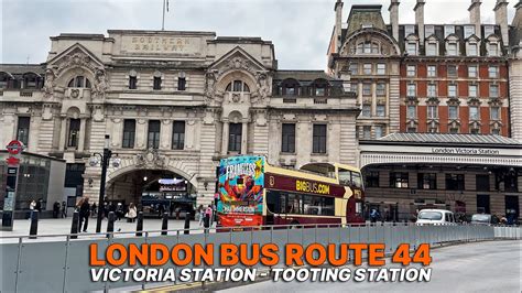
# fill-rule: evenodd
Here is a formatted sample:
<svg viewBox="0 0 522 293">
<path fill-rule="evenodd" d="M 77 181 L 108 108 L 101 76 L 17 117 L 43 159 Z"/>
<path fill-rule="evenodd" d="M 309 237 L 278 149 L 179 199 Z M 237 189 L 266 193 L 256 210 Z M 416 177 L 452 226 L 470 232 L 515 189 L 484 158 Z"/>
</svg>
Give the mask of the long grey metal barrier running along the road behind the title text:
<svg viewBox="0 0 522 293">
<path fill-rule="evenodd" d="M 441 246 L 455 241 L 480 241 L 494 239 L 522 239 L 521 227 L 492 226 L 416 226 L 416 225 L 302 225 L 295 226 L 262 226 L 246 231 L 211 228 L 204 232 L 202 229 L 143 231 L 143 237 L 134 237 L 135 231 L 106 234 L 81 234 L 78 239 L 72 235 L 39 236 L 39 240 L 26 237 L 2 237 L 0 262 L 1 292 L 75 292 L 75 291 L 108 291 L 116 287 L 141 285 L 142 289 L 165 285 L 165 283 L 135 282 L 91 282 L 89 262 L 89 245 L 98 245 L 98 251 L 112 242 L 128 246 L 130 243 L 164 243 L 173 247 L 177 243 L 384 243 L 385 252 L 392 252 L 400 243 L 416 247 L 421 243 Z M 17 240 L 9 243 L 8 240 Z M 51 241 L 48 241 L 51 240 Z M 251 253 L 249 251 L 249 253 Z M 102 258 L 102 256 L 98 256 Z M 219 260 L 219 251 L 215 250 L 215 259 Z M 280 267 L 283 263 L 279 264 Z M 215 265 L 219 267 L 219 263 Z M 259 264 L 261 267 L 261 264 Z M 126 269 L 126 265 L 119 269 Z M 156 269 L 172 268 L 167 263 Z M 184 268 L 191 268 L 184 267 Z M 242 265 L 238 265 L 242 268 Z M 176 274 L 180 269 L 175 268 Z"/>
</svg>

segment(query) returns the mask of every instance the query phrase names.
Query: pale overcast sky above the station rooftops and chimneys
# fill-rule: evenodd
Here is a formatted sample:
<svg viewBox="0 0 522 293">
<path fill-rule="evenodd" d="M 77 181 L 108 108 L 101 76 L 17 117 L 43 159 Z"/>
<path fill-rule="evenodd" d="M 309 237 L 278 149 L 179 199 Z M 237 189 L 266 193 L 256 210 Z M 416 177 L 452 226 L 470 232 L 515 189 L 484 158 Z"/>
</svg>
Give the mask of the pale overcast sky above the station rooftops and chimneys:
<svg viewBox="0 0 522 293">
<path fill-rule="evenodd" d="M 331 34 L 336 0 L 170 0 L 165 29 L 214 31 L 218 35 L 261 36 L 272 41 L 280 68 L 322 69 Z M 516 0 L 518 1 L 518 0 Z M 515 0 L 510 0 L 509 21 Z M 471 0 L 426 0 L 426 23 L 469 22 Z M 496 0 L 482 0 L 483 22 L 493 23 Z M 389 0 L 345 0 L 382 4 Z M 402 0 L 400 22 L 414 23 L 415 0 Z M 50 36 L 59 33 L 104 33 L 107 30 L 160 30 L 163 0 L 1 0 L 0 63 L 45 62 Z"/>
</svg>

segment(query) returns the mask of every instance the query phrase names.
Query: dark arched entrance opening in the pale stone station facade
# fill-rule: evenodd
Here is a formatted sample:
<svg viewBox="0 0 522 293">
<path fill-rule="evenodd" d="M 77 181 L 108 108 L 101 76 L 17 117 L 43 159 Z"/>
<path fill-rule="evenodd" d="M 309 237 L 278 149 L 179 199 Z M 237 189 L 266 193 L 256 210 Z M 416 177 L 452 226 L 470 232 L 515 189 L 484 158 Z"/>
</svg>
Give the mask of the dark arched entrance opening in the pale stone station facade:
<svg viewBox="0 0 522 293">
<path fill-rule="evenodd" d="M 133 170 L 107 182 L 106 202 L 124 207 L 131 203 L 145 217 L 184 217 L 196 205 L 196 188 L 184 176 L 168 170 Z"/>
</svg>

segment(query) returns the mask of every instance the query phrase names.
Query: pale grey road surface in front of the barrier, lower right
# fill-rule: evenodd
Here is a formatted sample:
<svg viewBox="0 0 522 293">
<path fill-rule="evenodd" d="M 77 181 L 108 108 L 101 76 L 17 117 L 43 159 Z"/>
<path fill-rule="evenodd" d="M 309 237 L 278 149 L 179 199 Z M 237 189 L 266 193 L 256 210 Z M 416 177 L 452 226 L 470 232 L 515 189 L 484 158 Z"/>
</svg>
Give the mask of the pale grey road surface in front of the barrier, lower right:
<svg viewBox="0 0 522 293">
<path fill-rule="evenodd" d="M 429 283 L 257 283 L 220 292 L 522 292 L 522 241 L 487 241 L 432 250 Z"/>
</svg>

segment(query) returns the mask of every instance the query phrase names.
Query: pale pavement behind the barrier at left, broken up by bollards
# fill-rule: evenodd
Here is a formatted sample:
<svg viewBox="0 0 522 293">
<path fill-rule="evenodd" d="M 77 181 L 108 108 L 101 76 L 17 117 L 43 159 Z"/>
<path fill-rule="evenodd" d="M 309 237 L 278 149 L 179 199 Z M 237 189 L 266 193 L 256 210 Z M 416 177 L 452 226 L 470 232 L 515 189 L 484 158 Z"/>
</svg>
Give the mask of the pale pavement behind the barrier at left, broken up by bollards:
<svg viewBox="0 0 522 293">
<path fill-rule="evenodd" d="M 37 235 L 65 235 L 70 232 L 72 218 L 65 219 L 41 219 L 39 220 L 39 230 Z M 101 231 L 107 230 L 107 219 L 101 224 Z M 31 221 L 29 219 L 15 219 L 14 227 L 12 231 L 0 231 L 1 237 L 11 237 L 11 236 L 29 236 Z M 162 220 L 156 218 L 144 218 L 143 219 L 143 230 L 144 231 L 157 231 L 161 230 Z M 168 220 L 168 230 L 183 229 L 185 220 Z M 192 229 L 198 229 L 199 227 L 197 221 L 191 221 Z M 121 232 L 133 232 L 135 231 L 135 223 L 127 223 L 126 219 L 117 220 L 115 223 L 115 231 L 121 229 Z M 96 218 L 89 218 L 89 225 L 87 228 L 88 234 L 94 234 L 96 231 Z M 196 232 L 196 231 L 194 231 Z M 197 231 L 200 232 L 200 231 Z M 174 234 L 174 232 L 172 232 Z M 132 234 L 127 235 L 129 237 Z M 121 235 L 123 237 L 124 235 Z M 39 241 L 57 241 L 64 240 L 64 238 L 52 237 L 52 238 L 37 238 Z M 0 239 L 0 242 L 12 242 L 17 239 Z M 25 241 L 25 240 L 24 240 Z M 29 240 L 28 240 L 29 241 Z"/>
</svg>

